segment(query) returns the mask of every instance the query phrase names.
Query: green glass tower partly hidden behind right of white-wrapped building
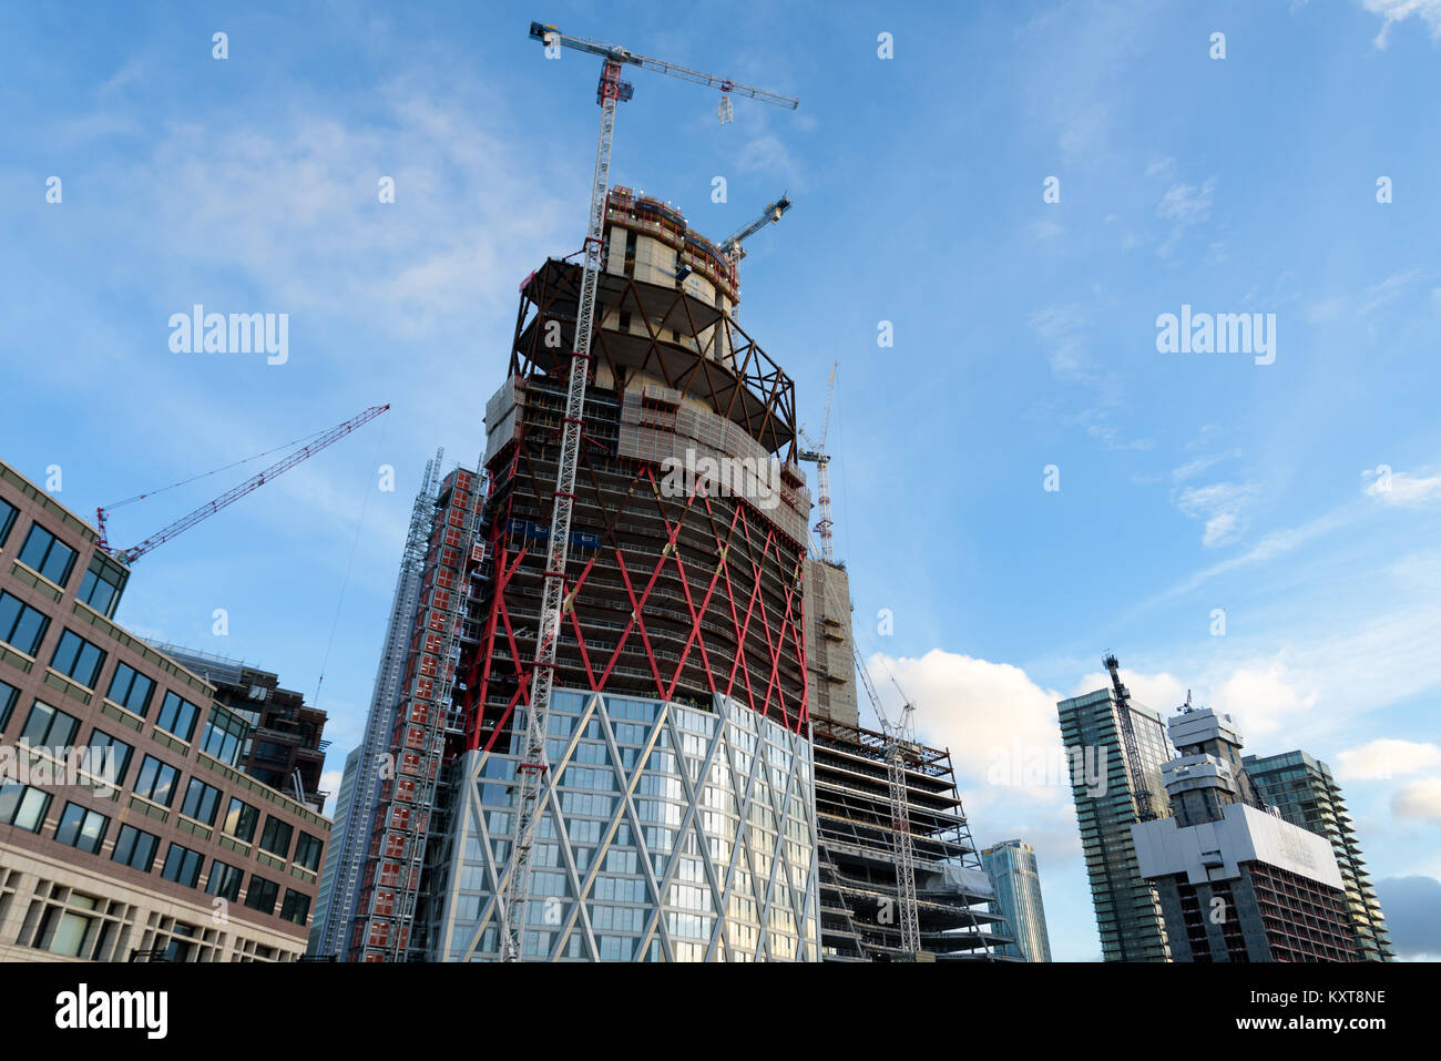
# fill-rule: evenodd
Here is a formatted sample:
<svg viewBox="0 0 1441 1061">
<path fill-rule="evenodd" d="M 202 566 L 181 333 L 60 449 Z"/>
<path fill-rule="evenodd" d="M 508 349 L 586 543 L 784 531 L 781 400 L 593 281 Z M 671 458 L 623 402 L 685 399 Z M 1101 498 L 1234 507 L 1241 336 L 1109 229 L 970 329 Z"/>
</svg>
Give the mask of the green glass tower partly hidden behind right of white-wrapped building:
<svg viewBox="0 0 1441 1061">
<path fill-rule="evenodd" d="M 1245 773 L 1268 807 L 1275 809 L 1291 825 L 1330 840 L 1346 888 L 1346 911 L 1360 957 L 1366 962 L 1393 960 L 1386 918 L 1380 913 L 1380 901 L 1356 840 L 1356 827 L 1331 768 L 1304 751 L 1246 755 L 1244 763 Z"/>
</svg>

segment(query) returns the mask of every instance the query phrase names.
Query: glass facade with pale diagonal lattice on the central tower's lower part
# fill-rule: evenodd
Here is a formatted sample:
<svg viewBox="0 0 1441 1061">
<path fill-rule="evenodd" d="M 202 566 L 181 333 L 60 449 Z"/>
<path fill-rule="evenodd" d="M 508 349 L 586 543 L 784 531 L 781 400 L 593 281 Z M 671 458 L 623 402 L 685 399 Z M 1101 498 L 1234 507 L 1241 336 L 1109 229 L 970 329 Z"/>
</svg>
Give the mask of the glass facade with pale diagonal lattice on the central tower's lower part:
<svg viewBox="0 0 1441 1061">
<path fill-rule="evenodd" d="M 520 740 L 517 735 L 514 740 Z M 523 954 L 579 962 L 816 962 L 811 751 L 716 711 L 556 691 Z M 435 960 L 500 956 L 514 757 L 470 753 L 451 817 Z"/>
</svg>

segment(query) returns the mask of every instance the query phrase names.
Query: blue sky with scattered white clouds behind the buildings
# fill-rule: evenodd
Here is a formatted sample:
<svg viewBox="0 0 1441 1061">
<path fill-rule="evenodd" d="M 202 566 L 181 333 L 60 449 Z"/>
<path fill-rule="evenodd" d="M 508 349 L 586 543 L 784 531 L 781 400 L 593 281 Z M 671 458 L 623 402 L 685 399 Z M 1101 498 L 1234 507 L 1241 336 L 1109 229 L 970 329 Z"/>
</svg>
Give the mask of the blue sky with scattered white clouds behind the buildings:
<svg viewBox="0 0 1441 1061">
<path fill-rule="evenodd" d="M 840 360 L 860 644 L 951 747 L 976 839 L 1038 848 L 1056 957 L 1099 951 L 1069 791 L 993 767 L 1055 748 L 1104 650 L 1164 712 L 1190 688 L 1248 751 L 1327 760 L 1398 943 L 1441 954 L 1437 0 L 12 6 L 4 458 L 89 513 L 392 404 L 141 559 L 121 621 L 307 695 L 324 662 L 339 770 L 419 471 L 474 460 L 517 284 L 584 232 L 597 69 L 530 17 L 801 98 L 720 125 L 715 92 L 637 72 L 612 180 L 718 238 L 795 199 L 742 323 L 810 425 Z M 173 353 L 195 303 L 290 314 L 290 359 Z M 1160 353 L 1182 306 L 1275 314 L 1274 363 Z"/>
</svg>

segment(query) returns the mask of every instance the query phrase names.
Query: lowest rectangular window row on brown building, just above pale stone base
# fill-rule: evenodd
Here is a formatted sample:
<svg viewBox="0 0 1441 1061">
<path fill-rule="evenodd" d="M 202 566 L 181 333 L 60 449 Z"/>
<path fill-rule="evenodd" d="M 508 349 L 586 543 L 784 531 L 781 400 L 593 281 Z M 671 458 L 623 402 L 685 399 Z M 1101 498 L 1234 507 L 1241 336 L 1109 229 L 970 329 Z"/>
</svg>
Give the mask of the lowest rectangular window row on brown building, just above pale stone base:
<svg viewBox="0 0 1441 1061">
<path fill-rule="evenodd" d="M 0 786 L 0 823 L 13 825 L 17 829 L 40 832 L 45 813 L 50 806 L 50 793 L 32 789 L 24 784 Z M 55 840 L 78 851 L 92 855 L 101 853 L 105 845 L 105 833 L 110 829 L 110 819 L 98 810 L 66 803 L 61 812 L 61 820 L 55 826 Z M 304 833 L 303 833 L 304 835 Z M 314 838 L 311 838 L 314 839 Z M 122 825 L 115 838 L 115 849 L 111 861 L 148 874 L 154 868 L 156 853 L 160 851 L 160 838 L 147 833 L 133 825 Z M 316 852 L 318 858 L 318 851 Z M 197 888 L 200 884 L 200 866 L 205 856 L 180 843 L 170 843 L 164 862 L 160 866 L 160 876 L 187 888 Z M 241 879 L 245 872 L 220 859 L 210 861 L 210 878 L 206 892 L 219 895 L 228 901 L 238 901 L 241 895 Z M 280 897 L 280 885 L 268 881 L 259 874 L 251 874 L 251 887 L 245 894 L 245 905 L 262 914 L 275 913 L 275 900 Z M 281 917 L 294 924 L 305 924 L 310 915 L 310 897 L 304 892 L 285 889 L 285 900 L 281 904 Z"/>
</svg>

